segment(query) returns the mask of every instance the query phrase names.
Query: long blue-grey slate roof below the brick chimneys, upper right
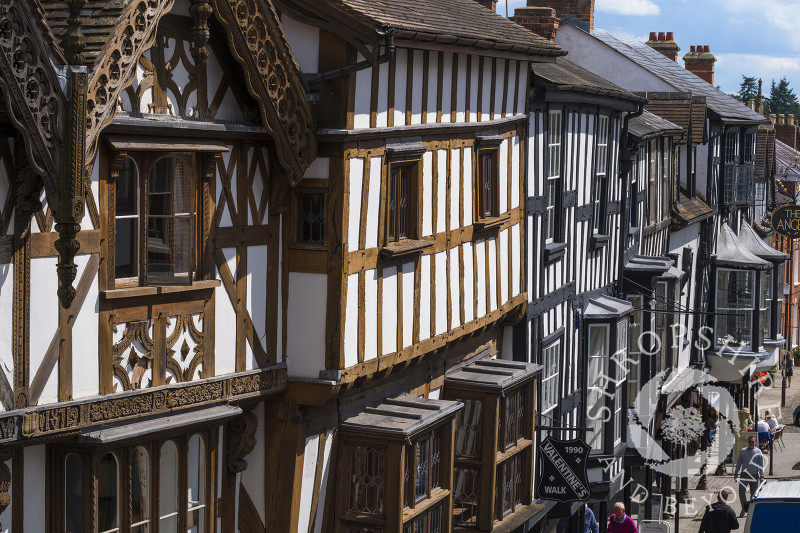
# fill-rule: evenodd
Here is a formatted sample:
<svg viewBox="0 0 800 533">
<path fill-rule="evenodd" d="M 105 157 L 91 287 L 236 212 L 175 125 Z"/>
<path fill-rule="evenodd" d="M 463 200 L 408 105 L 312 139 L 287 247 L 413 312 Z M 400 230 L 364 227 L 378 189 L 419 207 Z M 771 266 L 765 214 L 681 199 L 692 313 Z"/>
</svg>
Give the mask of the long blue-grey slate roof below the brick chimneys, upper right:
<svg viewBox="0 0 800 533">
<path fill-rule="evenodd" d="M 669 83 L 679 91 L 705 96 L 708 108 L 723 120 L 765 122 L 759 115 L 735 98 L 728 96 L 705 80 L 695 76 L 675 61 L 643 42 L 622 41 L 605 30 L 592 30 L 592 36 L 610 46 L 642 68 Z"/>
</svg>

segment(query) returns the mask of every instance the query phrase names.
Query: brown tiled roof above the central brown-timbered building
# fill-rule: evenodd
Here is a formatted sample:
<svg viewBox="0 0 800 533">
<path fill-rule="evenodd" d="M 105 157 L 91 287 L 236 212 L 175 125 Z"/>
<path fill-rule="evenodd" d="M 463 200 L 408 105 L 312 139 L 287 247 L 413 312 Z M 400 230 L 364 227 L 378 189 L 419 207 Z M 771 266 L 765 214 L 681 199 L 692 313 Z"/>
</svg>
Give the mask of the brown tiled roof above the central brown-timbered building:
<svg viewBox="0 0 800 533">
<path fill-rule="evenodd" d="M 444 40 L 478 48 L 566 54 L 557 44 L 493 13 L 475 0 L 325 0 L 379 27 L 406 30 L 403 38 Z M 462 42 L 459 42 L 459 38 Z M 463 42 L 466 40 L 467 42 Z"/>
</svg>

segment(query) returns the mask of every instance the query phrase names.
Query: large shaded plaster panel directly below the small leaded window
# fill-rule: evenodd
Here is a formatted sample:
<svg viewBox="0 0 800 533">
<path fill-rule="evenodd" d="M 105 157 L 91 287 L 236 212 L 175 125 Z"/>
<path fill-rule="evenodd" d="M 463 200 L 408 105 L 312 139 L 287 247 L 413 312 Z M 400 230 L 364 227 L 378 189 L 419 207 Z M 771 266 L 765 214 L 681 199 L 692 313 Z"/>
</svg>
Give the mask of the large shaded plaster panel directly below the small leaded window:
<svg viewBox="0 0 800 533">
<path fill-rule="evenodd" d="M 348 290 L 349 288 L 348 283 Z M 320 369 L 325 368 L 327 301 L 328 277 L 326 275 L 289 273 L 288 339 L 286 344 L 286 364 L 289 375 L 316 378 L 319 377 Z M 357 337 L 357 334 L 355 336 Z"/>
</svg>

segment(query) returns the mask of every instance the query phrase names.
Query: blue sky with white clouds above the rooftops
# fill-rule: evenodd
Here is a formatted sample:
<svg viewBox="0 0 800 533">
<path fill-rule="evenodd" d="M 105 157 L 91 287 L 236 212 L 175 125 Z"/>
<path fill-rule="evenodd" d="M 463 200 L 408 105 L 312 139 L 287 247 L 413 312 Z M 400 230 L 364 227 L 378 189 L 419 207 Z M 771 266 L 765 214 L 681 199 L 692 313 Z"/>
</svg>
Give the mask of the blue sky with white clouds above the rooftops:
<svg viewBox="0 0 800 533">
<path fill-rule="evenodd" d="M 524 5 L 498 0 L 497 12 Z M 691 45 L 709 45 L 714 84 L 727 93 L 739 91 L 744 74 L 763 79 L 767 97 L 783 76 L 800 95 L 800 0 L 596 0 L 594 25 L 622 40 L 674 32 L 681 65 Z"/>
</svg>

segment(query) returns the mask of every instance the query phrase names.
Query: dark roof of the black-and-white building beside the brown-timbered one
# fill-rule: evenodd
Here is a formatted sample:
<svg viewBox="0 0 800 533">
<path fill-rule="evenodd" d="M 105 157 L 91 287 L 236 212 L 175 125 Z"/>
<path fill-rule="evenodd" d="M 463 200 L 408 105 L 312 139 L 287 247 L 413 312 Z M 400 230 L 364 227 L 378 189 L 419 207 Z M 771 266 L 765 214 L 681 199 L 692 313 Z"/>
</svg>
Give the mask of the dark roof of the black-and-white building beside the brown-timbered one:
<svg viewBox="0 0 800 533">
<path fill-rule="evenodd" d="M 555 63 L 534 63 L 531 69 L 536 78 L 553 85 L 558 91 L 610 96 L 631 102 L 645 100 L 563 57 L 556 58 Z"/>
</svg>

